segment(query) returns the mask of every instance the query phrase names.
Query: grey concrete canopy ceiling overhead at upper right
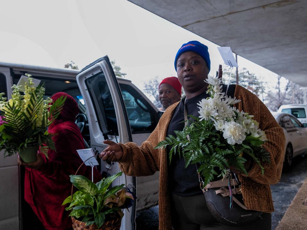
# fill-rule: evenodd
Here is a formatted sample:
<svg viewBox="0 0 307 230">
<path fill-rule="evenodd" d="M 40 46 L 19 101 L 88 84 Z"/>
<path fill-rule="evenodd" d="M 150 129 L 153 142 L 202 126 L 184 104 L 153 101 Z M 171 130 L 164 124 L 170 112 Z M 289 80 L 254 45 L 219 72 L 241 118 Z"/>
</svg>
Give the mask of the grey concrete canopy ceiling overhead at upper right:
<svg viewBox="0 0 307 230">
<path fill-rule="evenodd" d="M 129 1 L 307 86 L 307 1 Z"/>
</svg>

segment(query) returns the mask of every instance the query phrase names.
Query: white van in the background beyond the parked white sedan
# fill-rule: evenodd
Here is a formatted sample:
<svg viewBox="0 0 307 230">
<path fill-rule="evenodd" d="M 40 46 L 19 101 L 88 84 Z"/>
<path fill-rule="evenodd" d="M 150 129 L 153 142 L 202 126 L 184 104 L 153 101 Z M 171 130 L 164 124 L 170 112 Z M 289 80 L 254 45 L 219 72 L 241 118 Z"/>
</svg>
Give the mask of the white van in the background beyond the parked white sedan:
<svg viewBox="0 0 307 230">
<path fill-rule="evenodd" d="M 307 126 L 307 105 L 304 104 L 289 104 L 281 105 L 277 111 L 278 113 L 289 113 L 299 120 L 304 127 Z"/>
</svg>

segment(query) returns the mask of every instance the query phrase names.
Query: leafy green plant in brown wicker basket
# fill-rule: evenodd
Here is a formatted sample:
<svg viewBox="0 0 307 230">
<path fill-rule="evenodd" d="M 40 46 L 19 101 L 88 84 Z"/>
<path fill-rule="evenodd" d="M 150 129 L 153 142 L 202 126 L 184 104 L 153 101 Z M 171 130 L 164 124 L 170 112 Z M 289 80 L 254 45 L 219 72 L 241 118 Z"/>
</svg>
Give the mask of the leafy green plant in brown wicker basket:
<svg viewBox="0 0 307 230">
<path fill-rule="evenodd" d="M 70 203 L 66 210 L 71 210 L 69 216 L 72 217 L 74 226 L 109 229 L 107 226 L 112 225 L 113 228 L 110 229 L 120 228 L 121 218 L 124 215 L 122 209 L 129 208 L 134 201 L 132 194 L 122 189 L 124 184 L 109 188 L 121 175 L 122 172 L 119 172 L 103 178 L 96 184 L 84 176 L 70 175 L 70 181 L 79 191 L 67 197 L 62 205 Z"/>
</svg>

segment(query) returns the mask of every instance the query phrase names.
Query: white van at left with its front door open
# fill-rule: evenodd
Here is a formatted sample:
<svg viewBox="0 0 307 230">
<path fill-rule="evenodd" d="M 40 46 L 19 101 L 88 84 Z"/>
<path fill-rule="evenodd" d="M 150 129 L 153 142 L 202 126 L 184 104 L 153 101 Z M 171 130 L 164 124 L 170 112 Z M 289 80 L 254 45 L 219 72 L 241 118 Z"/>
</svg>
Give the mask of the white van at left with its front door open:
<svg viewBox="0 0 307 230">
<path fill-rule="evenodd" d="M 21 75 L 31 74 L 45 83 L 45 94 L 66 92 L 80 108 L 77 125 L 84 141 L 95 154 L 106 148 L 103 140 L 142 144 L 156 127 L 160 112 L 130 80 L 116 77 L 107 56 L 81 71 L 39 66 L 0 63 L 0 91 L 10 99 L 11 86 Z M 17 165 L 17 156 L 0 157 L 0 229 L 32 229 L 27 218 L 29 207 L 24 201 L 24 168 Z M 115 174 L 118 164 L 99 160 L 101 173 Z M 135 229 L 136 211 L 158 202 L 159 173 L 150 177 L 127 176 L 127 185 L 137 195 L 134 206 L 124 211 L 121 229 Z M 125 182 L 122 175 L 116 184 Z"/>
</svg>

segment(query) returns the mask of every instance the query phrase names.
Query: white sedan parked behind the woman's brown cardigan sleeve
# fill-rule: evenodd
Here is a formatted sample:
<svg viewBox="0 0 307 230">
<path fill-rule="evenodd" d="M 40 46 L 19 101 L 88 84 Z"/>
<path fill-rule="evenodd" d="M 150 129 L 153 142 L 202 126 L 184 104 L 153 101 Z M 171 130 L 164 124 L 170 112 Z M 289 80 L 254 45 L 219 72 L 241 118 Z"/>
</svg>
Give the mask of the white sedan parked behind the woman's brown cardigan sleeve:
<svg viewBox="0 0 307 230">
<path fill-rule="evenodd" d="M 286 137 L 284 168 L 289 169 L 293 157 L 304 155 L 307 151 L 307 128 L 291 114 L 278 112 L 272 114 Z"/>
</svg>

